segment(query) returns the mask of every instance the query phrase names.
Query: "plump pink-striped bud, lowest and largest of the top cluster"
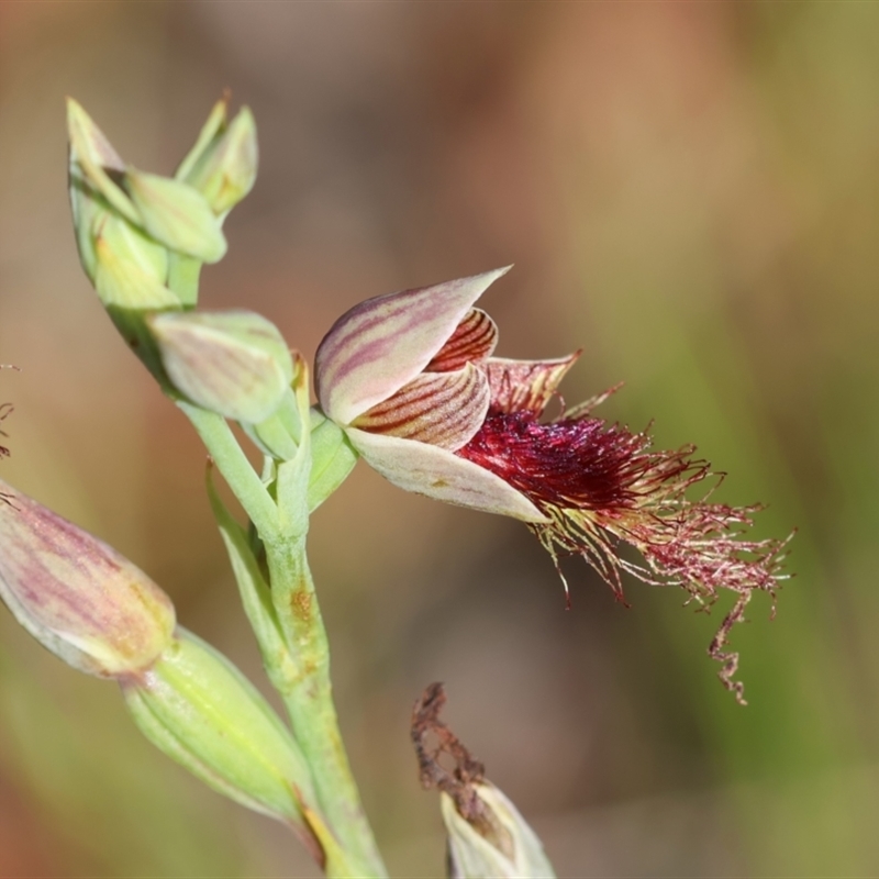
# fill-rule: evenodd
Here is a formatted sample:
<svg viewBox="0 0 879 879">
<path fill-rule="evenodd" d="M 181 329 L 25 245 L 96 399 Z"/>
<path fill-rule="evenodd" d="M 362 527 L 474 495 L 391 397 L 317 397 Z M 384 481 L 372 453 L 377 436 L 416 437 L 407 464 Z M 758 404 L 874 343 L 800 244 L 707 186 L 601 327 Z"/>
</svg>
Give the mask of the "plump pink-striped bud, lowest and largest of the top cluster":
<svg viewBox="0 0 879 879">
<path fill-rule="evenodd" d="M 259 314 L 165 312 L 148 324 L 171 382 L 202 409 L 258 424 L 290 387 L 290 351 L 275 324 Z"/>
</svg>

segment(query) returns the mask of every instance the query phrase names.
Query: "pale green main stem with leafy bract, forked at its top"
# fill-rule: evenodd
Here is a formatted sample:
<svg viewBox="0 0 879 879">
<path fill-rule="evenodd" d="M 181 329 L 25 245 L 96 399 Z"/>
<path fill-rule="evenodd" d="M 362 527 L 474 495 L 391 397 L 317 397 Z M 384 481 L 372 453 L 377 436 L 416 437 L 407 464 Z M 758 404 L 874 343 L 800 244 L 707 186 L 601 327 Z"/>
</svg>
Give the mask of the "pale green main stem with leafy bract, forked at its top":
<svg viewBox="0 0 879 879">
<path fill-rule="evenodd" d="M 192 421 L 266 550 L 270 588 L 244 530 L 209 486 L 263 661 L 287 708 L 297 743 L 311 768 L 321 812 L 338 844 L 327 853 L 327 875 L 386 877 L 342 743 L 333 704 L 326 631 L 305 556 L 311 470 L 308 434 L 290 460 L 277 464 L 276 505 L 225 420 L 189 403 L 178 405 Z"/>
</svg>

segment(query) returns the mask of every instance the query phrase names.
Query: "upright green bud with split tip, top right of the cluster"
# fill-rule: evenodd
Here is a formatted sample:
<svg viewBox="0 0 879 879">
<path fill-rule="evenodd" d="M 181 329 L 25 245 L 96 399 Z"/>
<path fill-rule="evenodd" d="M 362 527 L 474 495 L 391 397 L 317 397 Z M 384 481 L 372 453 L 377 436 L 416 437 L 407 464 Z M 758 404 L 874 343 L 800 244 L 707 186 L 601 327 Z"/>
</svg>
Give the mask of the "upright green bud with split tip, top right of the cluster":
<svg viewBox="0 0 879 879">
<path fill-rule="evenodd" d="M 216 102 L 175 175 L 198 189 L 221 218 L 253 189 L 258 163 L 253 114 L 243 107 L 230 123 L 227 110 L 226 98 Z"/>
</svg>

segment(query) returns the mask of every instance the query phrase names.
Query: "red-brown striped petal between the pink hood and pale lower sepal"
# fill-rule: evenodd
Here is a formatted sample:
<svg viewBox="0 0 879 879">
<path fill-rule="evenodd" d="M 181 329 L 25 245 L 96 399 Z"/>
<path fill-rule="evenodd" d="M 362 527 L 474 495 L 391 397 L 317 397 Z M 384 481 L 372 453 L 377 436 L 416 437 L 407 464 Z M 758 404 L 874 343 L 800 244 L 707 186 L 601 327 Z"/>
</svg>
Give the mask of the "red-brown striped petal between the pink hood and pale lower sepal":
<svg viewBox="0 0 879 879">
<path fill-rule="evenodd" d="M 482 425 L 488 404 L 488 380 L 467 364 L 456 372 L 422 372 L 393 397 L 358 415 L 352 426 L 454 452 Z"/>
</svg>

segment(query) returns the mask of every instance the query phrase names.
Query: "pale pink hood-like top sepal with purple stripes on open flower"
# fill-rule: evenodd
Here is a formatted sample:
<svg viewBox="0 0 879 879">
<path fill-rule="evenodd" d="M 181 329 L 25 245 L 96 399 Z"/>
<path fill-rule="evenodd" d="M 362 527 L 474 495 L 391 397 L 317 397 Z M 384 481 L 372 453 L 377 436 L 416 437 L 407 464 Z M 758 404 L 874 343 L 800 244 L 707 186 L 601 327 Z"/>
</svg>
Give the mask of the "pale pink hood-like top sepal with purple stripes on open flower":
<svg viewBox="0 0 879 879">
<path fill-rule="evenodd" d="M 351 424 L 397 393 L 508 269 L 368 299 L 343 314 L 315 357 L 314 382 L 324 412 L 337 424 Z"/>
</svg>

